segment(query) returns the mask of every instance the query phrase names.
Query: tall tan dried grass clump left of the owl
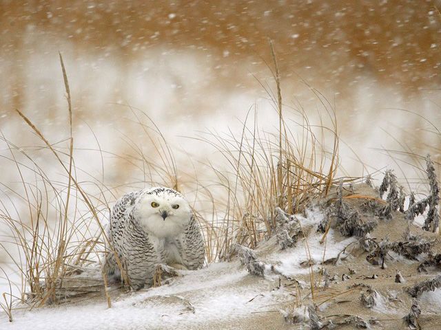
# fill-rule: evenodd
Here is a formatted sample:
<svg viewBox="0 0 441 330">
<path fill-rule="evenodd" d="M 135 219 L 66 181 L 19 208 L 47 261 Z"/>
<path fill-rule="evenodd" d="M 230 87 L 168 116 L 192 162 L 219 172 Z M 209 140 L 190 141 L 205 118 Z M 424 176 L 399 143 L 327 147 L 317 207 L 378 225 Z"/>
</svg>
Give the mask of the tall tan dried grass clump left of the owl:
<svg viewBox="0 0 441 330">
<path fill-rule="evenodd" d="M 5 186 L 6 190 L 3 191 L 6 196 L 19 197 L 19 202 L 10 198 L 9 204 L 2 203 L 0 210 L 1 220 L 8 226 L 11 243 L 19 255 L 10 253 L 3 243 L 0 245 L 22 278 L 19 288 L 21 296 L 17 298 L 30 307 L 57 303 L 61 283 L 70 274 L 71 266 L 81 267 L 94 262 L 94 254 L 102 245 L 99 232 L 92 230 L 90 223 L 94 219 L 102 230 L 99 213 L 103 204 L 94 203 L 94 197 L 88 195 L 76 179 L 72 103 L 61 54 L 60 62 L 68 100 L 70 136 L 67 153 L 51 144 L 21 111 L 17 110 L 17 113 L 43 142 L 43 150 L 48 150 L 55 157 L 64 172 L 66 183 L 50 179 L 50 175 L 43 170 L 43 164 L 38 164 L 30 153 L 14 145 L 4 135 L 1 137 L 10 153 L 10 164 L 17 168 L 21 177 L 21 189 Z M 34 183 L 25 180 L 25 173 L 29 172 L 35 177 Z M 80 205 L 88 212 L 79 211 Z M 26 209 L 28 214 L 23 212 Z M 14 213 L 10 210 L 14 210 Z"/>
</svg>

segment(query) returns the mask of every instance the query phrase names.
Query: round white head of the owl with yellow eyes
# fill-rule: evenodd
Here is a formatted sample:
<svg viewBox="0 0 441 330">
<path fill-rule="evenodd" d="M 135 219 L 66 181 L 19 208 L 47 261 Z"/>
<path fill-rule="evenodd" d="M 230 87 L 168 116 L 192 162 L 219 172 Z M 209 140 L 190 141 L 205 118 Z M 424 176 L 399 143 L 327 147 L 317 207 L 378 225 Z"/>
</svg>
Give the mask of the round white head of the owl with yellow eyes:
<svg viewBox="0 0 441 330">
<path fill-rule="evenodd" d="M 156 187 L 136 199 L 134 218 L 141 228 L 159 238 L 174 237 L 187 227 L 192 209 L 176 190 Z"/>
</svg>

